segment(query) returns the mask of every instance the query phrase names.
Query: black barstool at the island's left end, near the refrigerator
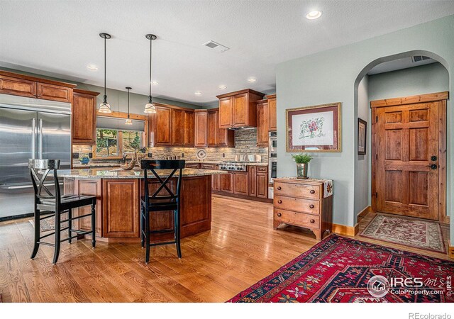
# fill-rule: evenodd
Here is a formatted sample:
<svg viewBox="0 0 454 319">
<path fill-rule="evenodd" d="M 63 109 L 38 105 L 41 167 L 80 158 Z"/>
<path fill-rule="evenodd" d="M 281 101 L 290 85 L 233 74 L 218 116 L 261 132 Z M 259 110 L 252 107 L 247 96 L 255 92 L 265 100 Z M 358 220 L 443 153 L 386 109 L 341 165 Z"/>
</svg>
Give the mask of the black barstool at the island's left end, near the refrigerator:
<svg viewBox="0 0 454 319">
<path fill-rule="evenodd" d="M 92 234 L 92 247 L 96 245 L 95 237 L 95 211 L 96 197 L 95 196 L 79 196 L 79 195 L 60 195 L 60 184 L 57 177 L 57 169 L 60 167 L 60 159 L 29 159 L 28 167 L 30 168 L 31 180 L 33 182 L 33 189 L 35 189 L 35 246 L 31 254 L 31 259 L 35 258 L 38 253 L 40 245 L 48 245 L 55 247 L 53 264 L 57 263 L 58 255 L 60 254 L 60 243 L 68 242 L 71 243 L 73 238 L 81 235 Z M 55 194 L 46 187 L 45 180 L 50 172 L 53 172 Z M 83 216 L 72 216 L 72 209 L 82 206 L 92 206 L 92 211 L 89 214 Z M 68 218 L 62 220 L 62 214 L 68 213 Z M 45 217 L 41 217 L 41 216 Z M 40 236 L 40 221 L 46 218 L 55 216 L 55 231 L 43 236 Z M 72 229 L 72 220 L 76 220 L 84 217 L 92 217 L 92 230 L 74 230 Z M 67 227 L 62 228 L 63 223 L 68 223 Z M 68 237 L 61 239 L 61 233 L 68 231 Z M 77 235 L 72 235 L 76 233 Z M 55 235 L 55 243 L 43 242 L 46 237 Z"/>
</svg>

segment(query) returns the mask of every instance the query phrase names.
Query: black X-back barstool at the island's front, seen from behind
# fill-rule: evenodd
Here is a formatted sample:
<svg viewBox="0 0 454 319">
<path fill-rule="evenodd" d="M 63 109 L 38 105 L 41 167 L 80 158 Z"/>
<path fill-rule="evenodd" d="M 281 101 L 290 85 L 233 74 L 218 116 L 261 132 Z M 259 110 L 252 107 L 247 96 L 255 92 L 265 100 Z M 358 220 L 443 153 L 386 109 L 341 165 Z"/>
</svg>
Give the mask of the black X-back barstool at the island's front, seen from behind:
<svg viewBox="0 0 454 319">
<path fill-rule="evenodd" d="M 140 242 L 142 247 L 146 246 L 145 262 L 150 261 L 150 246 L 176 244 L 178 258 L 182 257 L 182 250 L 179 239 L 179 198 L 182 186 L 182 170 L 184 169 L 184 160 L 152 160 L 142 159 L 140 167 L 144 174 L 144 193 L 145 196 L 140 198 Z M 158 174 L 156 170 L 165 169 Z M 148 170 L 159 182 L 159 186 L 152 195 L 150 195 L 150 185 L 156 186 L 155 179 L 148 178 Z M 176 172 L 177 177 L 174 177 Z M 162 179 L 165 177 L 165 179 Z M 177 178 L 176 192 L 172 190 L 172 185 L 169 182 L 172 178 Z M 150 212 L 154 211 L 173 211 L 174 213 L 174 229 L 173 230 L 150 230 Z M 150 234 L 156 233 L 174 233 L 174 241 L 172 242 L 155 242 L 150 243 Z"/>
</svg>

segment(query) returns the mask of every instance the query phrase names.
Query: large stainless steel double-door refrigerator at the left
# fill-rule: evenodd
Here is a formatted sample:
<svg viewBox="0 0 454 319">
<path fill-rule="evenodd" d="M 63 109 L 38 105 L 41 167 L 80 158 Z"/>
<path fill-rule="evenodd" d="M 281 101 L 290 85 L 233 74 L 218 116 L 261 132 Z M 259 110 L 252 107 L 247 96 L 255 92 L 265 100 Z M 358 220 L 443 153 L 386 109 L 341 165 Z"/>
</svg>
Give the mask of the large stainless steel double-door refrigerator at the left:
<svg viewBox="0 0 454 319">
<path fill-rule="evenodd" d="M 70 168 L 71 104 L 0 94 L 0 220 L 33 213 L 31 158 Z"/>
</svg>

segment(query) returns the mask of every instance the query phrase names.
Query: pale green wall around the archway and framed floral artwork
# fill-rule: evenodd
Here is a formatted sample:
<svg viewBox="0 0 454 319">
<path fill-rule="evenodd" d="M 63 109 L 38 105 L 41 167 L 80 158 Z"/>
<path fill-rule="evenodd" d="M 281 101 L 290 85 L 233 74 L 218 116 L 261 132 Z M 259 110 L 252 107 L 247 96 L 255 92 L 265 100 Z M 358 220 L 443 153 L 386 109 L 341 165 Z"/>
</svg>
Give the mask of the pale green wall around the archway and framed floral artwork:
<svg viewBox="0 0 454 319">
<path fill-rule="evenodd" d="M 295 165 L 285 151 L 285 109 L 342 102 L 342 152 L 315 154 L 309 174 L 334 180 L 333 223 L 355 225 L 355 154 L 358 84 L 381 62 L 411 55 L 427 55 L 443 63 L 454 83 L 454 16 L 358 43 L 300 57 L 277 65 L 277 133 L 279 177 L 294 176 Z M 448 101 L 448 211 L 454 207 L 453 112 Z M 454 218 L 450 239 L 454 242 Z"/>
</svg>

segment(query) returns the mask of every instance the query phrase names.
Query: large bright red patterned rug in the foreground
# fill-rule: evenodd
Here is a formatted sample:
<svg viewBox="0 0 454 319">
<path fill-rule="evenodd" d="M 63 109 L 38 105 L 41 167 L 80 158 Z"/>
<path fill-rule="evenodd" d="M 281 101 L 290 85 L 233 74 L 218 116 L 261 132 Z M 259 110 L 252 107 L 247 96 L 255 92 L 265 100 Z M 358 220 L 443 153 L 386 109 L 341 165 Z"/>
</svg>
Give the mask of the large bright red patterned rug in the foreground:
<svg viewBox="0 0 454 319">
<path fill-rule="evenodd" d="M 454 302 L 452 276 L 454 262 L 333 234 L 228 302 Z"/>
</svg>

